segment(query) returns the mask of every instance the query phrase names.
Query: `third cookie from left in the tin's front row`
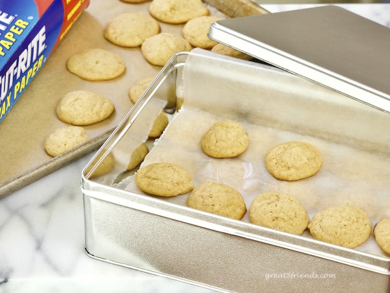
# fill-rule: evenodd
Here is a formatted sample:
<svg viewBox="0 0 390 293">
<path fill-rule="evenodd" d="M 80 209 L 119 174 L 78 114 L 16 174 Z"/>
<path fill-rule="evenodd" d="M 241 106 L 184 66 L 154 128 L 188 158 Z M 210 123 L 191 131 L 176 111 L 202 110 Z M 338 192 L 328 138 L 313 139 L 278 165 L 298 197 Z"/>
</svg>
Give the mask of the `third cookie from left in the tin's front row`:
<svg viewBox="0 0 390 293">
<path fill-rule="evenodd" d="M 289 194 L 264 192 L 249 207 L 251 223 L 300 235 L 308 227 L 309 215 L 299 201 Z"/>
</svg>

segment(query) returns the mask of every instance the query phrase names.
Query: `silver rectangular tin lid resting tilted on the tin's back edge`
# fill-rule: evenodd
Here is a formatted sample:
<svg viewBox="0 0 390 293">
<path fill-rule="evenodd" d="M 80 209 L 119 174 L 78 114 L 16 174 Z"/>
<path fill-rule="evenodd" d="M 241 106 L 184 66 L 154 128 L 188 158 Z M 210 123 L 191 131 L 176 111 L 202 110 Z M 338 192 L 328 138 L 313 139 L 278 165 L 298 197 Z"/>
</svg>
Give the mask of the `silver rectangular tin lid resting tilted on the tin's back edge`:
<svg viewBox="0 0 390 293">
<path fill-rule="evenodd" d="M 346 9 L 216 21 L 209 37 L 390 113 L 390 28 Z"/>
</svg>

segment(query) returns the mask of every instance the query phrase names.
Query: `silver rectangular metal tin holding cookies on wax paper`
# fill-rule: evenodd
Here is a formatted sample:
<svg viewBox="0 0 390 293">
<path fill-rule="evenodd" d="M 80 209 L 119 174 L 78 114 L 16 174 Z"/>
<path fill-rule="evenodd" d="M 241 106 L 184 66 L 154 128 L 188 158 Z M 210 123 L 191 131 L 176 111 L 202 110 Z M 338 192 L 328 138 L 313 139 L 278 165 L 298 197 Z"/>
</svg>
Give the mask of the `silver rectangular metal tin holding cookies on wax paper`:
<svg viewBox="0 0 390 293">
<path fill-rule="evenodd" d="M 175 55 L 96 154 L 98 163 L 93 159 L 83 170 L 87 254 L 220 292 L 327 292 L 346 288 L 388 292 L 390 258 L 384 255 L 255 226 L 119 188 L 116 183 L 120 178 L 134 171 L 120 176 L 115 173 L 111 179 L 110 175 L 90 178 L 104 157 L 120 144 L 134 149 L 144 141 L 145 135 L 139 134 L 149 126 L 137 121 L 160 109 L 154 105 L 174 111 L 173 93 L 185 86 L 182 70 L 191 54 L 203 53 L 195 50 Z M 210 59 L 232 62 L 205 54 L 206 64 Z M 259 74 L 286 75 L 262 64 L 249 66 Z M 234 66 L 227 72 L 232 73 Z"/>
</svg>

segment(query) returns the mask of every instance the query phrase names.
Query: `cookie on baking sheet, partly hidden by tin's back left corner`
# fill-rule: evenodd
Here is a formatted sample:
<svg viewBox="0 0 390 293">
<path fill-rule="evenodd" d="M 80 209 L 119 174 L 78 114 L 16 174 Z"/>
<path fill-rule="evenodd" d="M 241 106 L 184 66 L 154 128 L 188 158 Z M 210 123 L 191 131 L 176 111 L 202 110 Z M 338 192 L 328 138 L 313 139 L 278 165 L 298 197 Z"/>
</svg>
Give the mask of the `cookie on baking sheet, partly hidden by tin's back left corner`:
<svg viewBox="0 0 390 293">
<path fill-rule="evenodd" d="M 145 60 L 158 66 L 164 66 L 174 54 L 191 49 L 187 40 L 170 33 L 159 33 L 146 39 L 141 45 Z"/>
</svg>

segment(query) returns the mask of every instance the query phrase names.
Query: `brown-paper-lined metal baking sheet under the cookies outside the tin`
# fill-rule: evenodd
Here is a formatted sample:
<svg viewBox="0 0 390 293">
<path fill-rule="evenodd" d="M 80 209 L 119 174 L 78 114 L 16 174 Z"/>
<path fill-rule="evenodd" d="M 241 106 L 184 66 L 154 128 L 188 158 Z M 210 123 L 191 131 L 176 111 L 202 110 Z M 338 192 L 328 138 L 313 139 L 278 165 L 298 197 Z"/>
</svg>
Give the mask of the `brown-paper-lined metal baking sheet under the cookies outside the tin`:
<svg viewBox="0 0 390 293">
<path fill-rule="evenodd" d="M 247 7 L 246 10 L 239 11 L 238 16 L 240 13 L 267 12 L 252 2 L 248 4 L 250 1 L 246 0 L 210 2 L 219 5 L 226 13 L 232 11 L 234 5 Z M 133 106 L 128 97 L 130 86 L 141 78 L 156 76 L 160 71 L 160 66 L 151 65 L 144 60 L 140 48 L 122 48 L 103 37 L 104 26 L 115 16 L 124 12 L 147 13 L 149 4 L 150 2 L 129 4 L 120 0 L 92 0 L 81 14 L 19 102 L 0 124 L 0 158 L 3 166 L 0 171 L 0 198 L 96 150 Z M 162 32 L 181 35 L 182 25 L 160 22 L 160 26 Z M 121 56 L 126 64 L 126 72 L 112 81 L 87 82 L 67 71 L 65 64 L 70 56 L 85 48 L 94 47 L 107 49 Z M 52 158 L 44 150 L 44 140 L 55 129 L 66 126 L 57 118 L 57 104 L 67 92 L 80 89 L 92 90 L 111 99 L 115 112 L 102 122 L 83 126 L 92 138 L 89 142 Z"/>
</svg>

